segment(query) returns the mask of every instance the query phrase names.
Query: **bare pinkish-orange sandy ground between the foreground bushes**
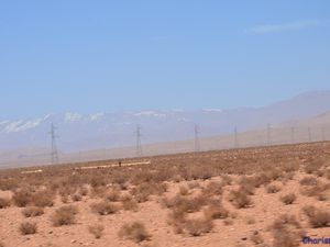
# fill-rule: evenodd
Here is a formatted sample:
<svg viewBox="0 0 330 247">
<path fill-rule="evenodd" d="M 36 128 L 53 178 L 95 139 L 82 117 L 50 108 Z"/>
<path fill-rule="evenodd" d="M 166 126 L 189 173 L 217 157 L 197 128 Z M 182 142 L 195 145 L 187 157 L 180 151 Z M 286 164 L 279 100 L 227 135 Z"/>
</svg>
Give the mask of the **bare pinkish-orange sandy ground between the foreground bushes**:
<svg viewBox="0 0 330 247">
<path fill-rule="evenodd" d="M 318 201 L 315 198 L 305 197 L 300 193 L 299 180 L 306 175 L 297 172 L 293 180 L 286 184 L 279 182 L 282 191 L 275 194 L 266 193 L 265 188 L 256 189 L 255 194 L 252 195 L 253 206 L 248 209 L 235 209 L 228 201 L 228 193 L 237 186 L 228 186 L 222 195 L 222 202 L 226 209 L 231 214 L 235 215 L 232 218 L 232 225 L 224 224 L 223 220 L 215 220 L 215 227 L 211 233 L 199 237 L 193 237 L 188 234 L 175 234 L 173 227 L 167 224 L 168 209 L 161 205 L 161 197 L 152 195 L 151 200 L 139 204 L 138 212 L 120 211 L 112 215 L 98 216 L 90 211 L 90 204 L 96 199 L 88 197 L 80 202 L 72 202 L 77 205 L 79 213 L 77 222 L 74 225 L 54 227 L 50 221 L 52 213 L 63 205 L 59 199 L 56 200 L 53 207 L 46 207 L 45 214 L 35 217 L 32 221 L 37 223 L 38 231 L 34 235 L 21 235 L 19 232 L 20 224 L 25 221 L 22 215 L 22 209 L 11 206 L 0 210 L 0 242 L 6 247 L 78 247 L 78 246 L 94 246 L 94 247 L 109 247 L 109 246 L 166 246 L 166 247 L 200 247 L 200 246 L 219 246 L 219 247 L 237 247 L 237 246 L 256 246 L 251 242 L 251 236 L 256 231 L 264 239 L 264 245 L 272 246 L 273 235 L 268 231 L 270 226 L 276 217 L 280 214 L 294 214 L 300 222 L 302 229 L 306 231 L 306 236 L 310 237 L 330 237 L 330 228 L 311 228 L 308 220 L 301 213 L 304 205 L 316 205 L 330 212 L 329 190 L 328 200 Z M 234 177 L 238 180 L 238 177 Z M 318 178 L 322 180 L 322 178 Z M 219 178 L 212 178 L 219 180 Z M 327 180 L 324 179 L 324 182 Z M 199 181 L 200 186 L 208 183 L 207 181 Z M 178 192 L 180 186 L 187 182 L 169 183 L 168 192 L 165 197 L 173 197 Z M 193 189 L 194 190 L 199 190 Z M 297 201 L 290 205 L 284 205 L 279 200 L 280 195 L 288 192 L 297 194 Z M 10 197 L 11 192 L 2 191 L 0 197 Z M 163 195 L 164 197 L 164 195 Z M 121 239 L 118 236 L 120 227 L 124 223 L 140 221 L 145 224 L 146 229 L 152 235 L 148 242 L 135 244 L 132 240 Z M 96 239 L 94 235 L 88 232 L 88 226 L 101 223 L 105 226 L 103 235 L 100 239 Z M 301 244 L 301 246 L 305 246 Z M 310 246 L 310 245 L 307 245 Z M 317 245 L 322 246 L 322 245 Z M 327 245 L 323 245 L 327 246 Z M 329 246 L 329 245 L 328 245 Z"/>
</svg>

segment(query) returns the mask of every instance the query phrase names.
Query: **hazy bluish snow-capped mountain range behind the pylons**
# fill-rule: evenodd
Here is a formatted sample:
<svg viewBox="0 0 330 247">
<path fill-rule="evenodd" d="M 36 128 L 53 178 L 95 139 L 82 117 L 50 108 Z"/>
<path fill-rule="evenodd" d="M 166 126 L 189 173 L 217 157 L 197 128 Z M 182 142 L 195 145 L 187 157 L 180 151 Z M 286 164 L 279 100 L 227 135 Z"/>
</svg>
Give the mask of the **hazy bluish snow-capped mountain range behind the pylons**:
<svg viewBox="0 0 330 247">
<path fill-rule="evenodd" d="M 18 148 L 50 147 L 51 124 L 57 127 L 58 149 L 65 153 L 135 144 L 135 130 L 141 126 L 143 143 L 174 142 L 194 137 L 194 125 L 200 136 L 262 128 L 267 123 L 304 121 L 330 111 L 330 91 L 297 96 L 270 106 L 233 110 L 205 109 L 118 113 L 47 114 L 33 120 L 0 120 L 0 153 Z"/>
</svg>

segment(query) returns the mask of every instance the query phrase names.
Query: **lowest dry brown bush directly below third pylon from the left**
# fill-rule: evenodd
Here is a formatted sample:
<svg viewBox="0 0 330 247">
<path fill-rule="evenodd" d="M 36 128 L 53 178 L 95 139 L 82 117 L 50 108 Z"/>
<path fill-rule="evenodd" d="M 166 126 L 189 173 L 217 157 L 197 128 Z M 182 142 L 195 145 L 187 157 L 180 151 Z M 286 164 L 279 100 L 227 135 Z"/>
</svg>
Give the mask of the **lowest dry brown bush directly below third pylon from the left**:
<svg viewBox="0 0 330 247">
<path fill-rule="evenodd" d="M 194 218 L 187 220 L 185 223 L 185 228 L 191 236 L 200 236 L 209 233 L 213 226 L 212 218 Z"/>
</svg>

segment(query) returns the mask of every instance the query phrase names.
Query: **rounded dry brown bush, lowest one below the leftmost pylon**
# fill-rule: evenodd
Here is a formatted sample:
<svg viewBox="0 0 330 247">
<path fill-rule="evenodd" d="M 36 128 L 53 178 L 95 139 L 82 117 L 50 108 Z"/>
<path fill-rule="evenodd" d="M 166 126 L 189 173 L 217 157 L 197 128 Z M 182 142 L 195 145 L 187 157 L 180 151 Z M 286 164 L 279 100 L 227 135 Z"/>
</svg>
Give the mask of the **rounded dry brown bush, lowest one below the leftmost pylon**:
<svg viewBox="0 0 330 247">
<path fill-rule="evenodd" d="M 51 220 L 54 226 L 72 225 L 76 222 L 77 213 L 78 210 L 76 206 L 65 205 L 57 209 Z"/>
</svg>

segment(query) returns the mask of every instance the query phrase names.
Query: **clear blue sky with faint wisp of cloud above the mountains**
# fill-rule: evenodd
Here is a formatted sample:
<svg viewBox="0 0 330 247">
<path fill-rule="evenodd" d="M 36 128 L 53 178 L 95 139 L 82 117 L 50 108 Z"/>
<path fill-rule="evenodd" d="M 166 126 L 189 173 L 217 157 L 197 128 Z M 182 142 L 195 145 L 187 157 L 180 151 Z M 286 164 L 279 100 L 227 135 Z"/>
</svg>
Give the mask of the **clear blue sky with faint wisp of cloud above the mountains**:
<svg viewBox="0 0 330 247">
<path fill-rule="evenodd" d="M 330 89 L 328 0 L 0 2 L 0 120 Z"/>
</svg>

